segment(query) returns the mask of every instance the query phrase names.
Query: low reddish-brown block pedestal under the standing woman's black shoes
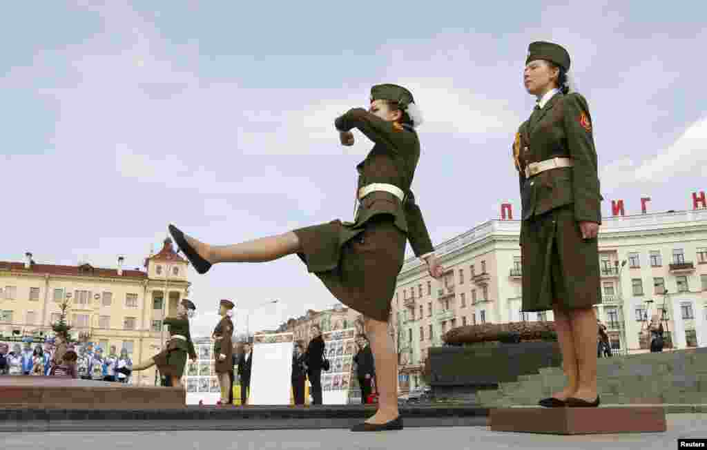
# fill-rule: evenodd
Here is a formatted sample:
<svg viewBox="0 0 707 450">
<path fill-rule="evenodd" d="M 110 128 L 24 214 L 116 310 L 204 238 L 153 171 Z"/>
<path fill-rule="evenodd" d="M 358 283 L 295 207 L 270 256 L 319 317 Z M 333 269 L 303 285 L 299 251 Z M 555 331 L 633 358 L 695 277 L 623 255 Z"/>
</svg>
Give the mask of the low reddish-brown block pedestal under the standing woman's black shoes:
<svg viewBox="0 0 707 450">
<path fill-rule="evenodd" d="M 539 434 L 614 434 L 665 432 L 661 406 L 600 408 L 498 408 L 490 411 L 491 431 Z"/>
</svg>

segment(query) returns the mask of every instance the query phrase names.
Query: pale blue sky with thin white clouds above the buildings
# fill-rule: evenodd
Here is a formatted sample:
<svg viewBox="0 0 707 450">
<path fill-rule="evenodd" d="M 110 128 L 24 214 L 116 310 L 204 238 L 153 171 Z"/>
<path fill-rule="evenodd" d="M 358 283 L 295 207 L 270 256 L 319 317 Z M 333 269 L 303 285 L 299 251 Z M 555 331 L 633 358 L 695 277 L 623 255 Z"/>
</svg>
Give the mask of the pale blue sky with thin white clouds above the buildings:
<svg viewBox="0 0 707 450">
<path fill-rule="evenodd" d="M 433 242 L 510 200 L 534 98 L 528 43 L 565 46 L 590 104 L 604 215 L 691 208 L 707 190 L 707 4 L 701 1 L 23 2 L 0 15 L 0 259 L 129 267 L 175 223 L 230 244 L 351 220 L 355 165 L 333 122 L 370 85 L 413 92 L 426 123 L 413 189 Z M 408 254 L 411 249 L 408 246 Z M 218 299 L 237 329 L 274 328 L 334 298 L 297 256 L 190 270 L 197 333 Z"/>
</svg>

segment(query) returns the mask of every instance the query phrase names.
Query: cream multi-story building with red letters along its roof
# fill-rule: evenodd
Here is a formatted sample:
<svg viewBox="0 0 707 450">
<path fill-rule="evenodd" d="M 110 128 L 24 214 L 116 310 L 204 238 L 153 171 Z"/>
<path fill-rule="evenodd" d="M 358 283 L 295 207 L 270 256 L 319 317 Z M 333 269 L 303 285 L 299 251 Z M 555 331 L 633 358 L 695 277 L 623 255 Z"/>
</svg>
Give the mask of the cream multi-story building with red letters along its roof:
<svg viewBox="0 0 707 450">
<path fill-rule="evenodd" d="M 428 349 L 451 328 L 553 320 L 551 311 L 520 311 L 522 266 L 532 261 L 520 260 L 519 235 L 520 221 L 489 220 L 440 244 L 446 272 L 439 281 L 419 259 L 405 261 L 392 299 L 402 390 L 421 385 Z M 707 209 L 605 218 L 599 247 L 602 303 L 595 309 L 615 350 L 647 351 L 641 330 L 662 309 L 677 348 L 707 345 Z"/>
</svg>

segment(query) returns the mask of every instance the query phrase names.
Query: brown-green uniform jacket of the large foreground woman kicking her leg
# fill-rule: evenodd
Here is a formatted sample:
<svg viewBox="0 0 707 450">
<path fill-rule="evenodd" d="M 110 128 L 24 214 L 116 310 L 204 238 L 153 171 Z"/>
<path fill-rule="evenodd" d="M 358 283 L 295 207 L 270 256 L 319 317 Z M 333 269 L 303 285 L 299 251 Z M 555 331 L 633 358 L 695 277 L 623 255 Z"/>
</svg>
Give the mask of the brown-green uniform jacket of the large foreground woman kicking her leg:
<svg viewBox="0 0 707 450">
<path fill-rule="evenodd" d="M 350 109 L 334 125 L 339 131 L 357 128 L 375 143 L 366 159 L 356 166 L 359 189 L 371 183 L 387 183 L 399 187 L 406 195 L 402 204 L 392 198 L 386 200 L 385 196 L 370 195 L 356 214 L 354 227 L 363 227 L 376 214 L 389 213 L 395 217 L 395 225 L 407 234 L 415 256 L 433 251 L 422 212 L 410 190 L 420 159 L 416 131 L 407 125 L 386 122 L 363 108 Z"/>
</svg>

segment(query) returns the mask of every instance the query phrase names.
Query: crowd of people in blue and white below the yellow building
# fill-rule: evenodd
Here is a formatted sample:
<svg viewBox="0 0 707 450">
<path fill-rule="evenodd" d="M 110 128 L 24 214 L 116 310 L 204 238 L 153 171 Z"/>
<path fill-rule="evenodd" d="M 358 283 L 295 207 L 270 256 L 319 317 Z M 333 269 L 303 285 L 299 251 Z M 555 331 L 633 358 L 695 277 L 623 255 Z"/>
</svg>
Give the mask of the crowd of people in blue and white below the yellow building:
<svg viewBox="0 0 707 450">
<path fill-rule="evenodd" d="M 118 354 L 115 345 L 104 355 L 92 343 L 74 344 L 61 336 L 50 338 L 43 344 L 30 339 L 23 343 L 0 342 L 0 375 L 68 376 L 95 381 L 128 383 L 133 362 L 126 349 Z"/>
</svg>

